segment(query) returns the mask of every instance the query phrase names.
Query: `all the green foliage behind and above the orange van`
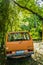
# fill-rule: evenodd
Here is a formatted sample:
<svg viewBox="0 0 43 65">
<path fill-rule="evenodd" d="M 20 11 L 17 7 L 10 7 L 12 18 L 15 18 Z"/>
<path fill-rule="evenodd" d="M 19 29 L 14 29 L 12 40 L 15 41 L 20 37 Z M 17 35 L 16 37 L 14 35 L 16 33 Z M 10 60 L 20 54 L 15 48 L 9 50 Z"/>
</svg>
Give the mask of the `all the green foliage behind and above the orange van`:
<svg viewBox="0 0 43 65">
<path fill-rule="evenodd" d="M 35 0 L 16 0 L 16 2 L 43 17 L 43 7 L 38 7 Z M 0 34 L 2 33 L 2 37 L 5 37 L 5 33 L 8 31 L 26 30 L 30 31 L 33 38 L 37 36 L 39 39 L 42 21 L 31 10 L 22 9 L 17 3 L 15 4 L 14 0 L 0 0 Z"/>
</svg>

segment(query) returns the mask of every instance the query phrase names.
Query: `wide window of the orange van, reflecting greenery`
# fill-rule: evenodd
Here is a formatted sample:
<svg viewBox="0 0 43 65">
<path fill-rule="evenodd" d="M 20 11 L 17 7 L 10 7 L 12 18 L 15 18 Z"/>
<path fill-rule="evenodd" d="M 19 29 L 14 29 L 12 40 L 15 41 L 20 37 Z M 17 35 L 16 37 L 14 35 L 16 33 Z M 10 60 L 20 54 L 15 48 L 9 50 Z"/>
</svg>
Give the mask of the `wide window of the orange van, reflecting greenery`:
<svg viewBox="0 0 43 65">
<path fill-rule="evenodd" d="M 30 36 L 26 33 L 10 33 L 8 34 L 8 41 L 20 41 L 20 40 L 29 40 Z"/>
</svg>

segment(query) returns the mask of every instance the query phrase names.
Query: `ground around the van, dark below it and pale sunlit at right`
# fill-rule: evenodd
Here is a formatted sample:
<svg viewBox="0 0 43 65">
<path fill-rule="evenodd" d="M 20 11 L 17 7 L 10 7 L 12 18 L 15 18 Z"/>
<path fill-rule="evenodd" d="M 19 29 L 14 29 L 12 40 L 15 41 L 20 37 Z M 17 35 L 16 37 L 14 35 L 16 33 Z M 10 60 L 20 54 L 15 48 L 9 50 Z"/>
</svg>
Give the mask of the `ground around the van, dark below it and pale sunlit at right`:
<svg viewBox="0 0 43 65">
<path fill-rule="evenodd" d="M 0 65 L 43 65 L 43 43 L 34 42 L 34 54 L 31 57 L 7 59 L 3 63 Z"/>
</svg>

